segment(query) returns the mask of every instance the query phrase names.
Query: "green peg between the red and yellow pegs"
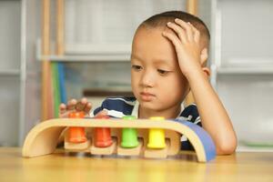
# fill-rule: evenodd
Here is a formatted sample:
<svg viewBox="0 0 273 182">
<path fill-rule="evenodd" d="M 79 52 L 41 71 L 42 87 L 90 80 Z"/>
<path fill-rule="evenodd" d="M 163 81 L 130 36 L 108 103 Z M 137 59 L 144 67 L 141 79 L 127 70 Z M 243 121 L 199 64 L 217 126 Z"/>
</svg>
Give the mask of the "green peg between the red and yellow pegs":
<svg viewBox="0 0 273 182">
<path fill-rule="evenodd" d="M 136 116 L 123 116 L 123 119 L 133 120 Z M 137 132 L 135 128 L 123 128 L 121 134 L 121 147 L 131 148 L 138 146 Z"/>
</svg>

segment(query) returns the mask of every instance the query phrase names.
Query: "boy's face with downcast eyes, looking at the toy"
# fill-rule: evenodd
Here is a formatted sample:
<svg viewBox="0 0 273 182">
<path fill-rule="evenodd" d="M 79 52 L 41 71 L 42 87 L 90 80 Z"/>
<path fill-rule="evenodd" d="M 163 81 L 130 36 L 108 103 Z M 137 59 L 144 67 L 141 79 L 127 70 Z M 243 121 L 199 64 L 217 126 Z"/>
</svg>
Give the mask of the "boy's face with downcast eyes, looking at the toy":
<svg viewBox="0 0 273 182">
<path fill-rule="evenodd" d="M 142 108 L 157 111 L 177 108 L 188 93 L 174 46 L 162 32 L 163 28 L 139 28 L 131 56 L 133 93 Z"/>
</svg>

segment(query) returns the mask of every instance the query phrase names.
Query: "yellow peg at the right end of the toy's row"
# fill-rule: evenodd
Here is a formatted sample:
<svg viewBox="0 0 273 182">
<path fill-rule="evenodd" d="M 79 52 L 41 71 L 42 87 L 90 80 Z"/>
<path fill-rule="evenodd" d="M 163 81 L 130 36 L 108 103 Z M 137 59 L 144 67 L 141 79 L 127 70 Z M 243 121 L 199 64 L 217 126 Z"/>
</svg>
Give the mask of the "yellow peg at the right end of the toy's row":
<svg viewBox="0 0 273 182">
<path fill-rule="evenodd" d="M 152 116 L 149 119 L 153 121 L 165 120 L 163 116 Z M 166 147 L 164 129 L 158 129 L 158 128 L 149 129 L 147 147 L 158 148 L 158 149 Z"/>
</svg>

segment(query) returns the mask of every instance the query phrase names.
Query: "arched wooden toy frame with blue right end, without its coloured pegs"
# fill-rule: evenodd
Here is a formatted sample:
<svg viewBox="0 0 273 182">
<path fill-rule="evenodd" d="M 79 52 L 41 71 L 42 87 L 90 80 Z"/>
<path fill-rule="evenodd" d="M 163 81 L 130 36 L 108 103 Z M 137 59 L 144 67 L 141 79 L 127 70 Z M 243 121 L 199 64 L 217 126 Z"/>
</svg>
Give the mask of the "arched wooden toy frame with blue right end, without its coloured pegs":
<svg viewBox="0 0 273 182">
<path fill-rule="evenodd" d="M 85 144 L 69 144 L 66 140 L 66 128 L 80 126 L 86 128 L 89 136 Z M 110 127 L 111 136 L 115 138 L 115 145 L 107 148 L 98 148 L 92 145 L 92 131 L 96 127 Z M 119 147 L 121 128 L 136 128 L 140 144 L 136 148 Z M 149 128 L 162 128 L 166 133 L 167 147 L 164 149 L 147 148 L 147 134 Z M 148 119 L 123 120 L 123 119 L 51 119 L 35 126 L 26 136 L 23 147 L 23 157 L 39 157 L 55 151 L 57 141 L 62 132 L 65 132 L 65 148 L 70 151 L 84 151 L 96 155 L 117 154 L 121 156 L 167 157 L 175 156 L 180 150 L 180 137 L 184 135 L 194 147 L 198 162 L 207 162 L 216 157 L 216 147 L 200 126 L 187 121 Z"/>
</svg>

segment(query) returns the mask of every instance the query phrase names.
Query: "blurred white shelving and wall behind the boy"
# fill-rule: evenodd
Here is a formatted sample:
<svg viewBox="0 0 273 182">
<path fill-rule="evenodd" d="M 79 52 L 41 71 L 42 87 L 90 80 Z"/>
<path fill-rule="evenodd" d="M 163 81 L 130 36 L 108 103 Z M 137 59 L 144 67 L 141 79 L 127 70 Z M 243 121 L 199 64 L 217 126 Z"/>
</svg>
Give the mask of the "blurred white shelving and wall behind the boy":
<svg viewBox="0 0 273 182">
<path fill-rule="evenodd" d="M 150 15 L 186 11 L 186 0 L 65 0 L 65 50 L 56 55 L 56 1 L 50 53 L 42 53 L 40 0 L 0 0 L 0 147 L 22 146 L 41 121 L 42 60 L 63 67 L 66 99 L 130 96 L 130 48 Z M 273 1 L 199 0 L 211 33 L 211 84 L 236 129 L 238 151 L 273 151 Z M 64 90 L 63 90 L 64 91 Z M 207 103 L 209 105 L 209 103 Z"/>
</svg>

